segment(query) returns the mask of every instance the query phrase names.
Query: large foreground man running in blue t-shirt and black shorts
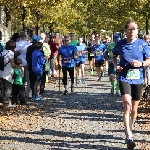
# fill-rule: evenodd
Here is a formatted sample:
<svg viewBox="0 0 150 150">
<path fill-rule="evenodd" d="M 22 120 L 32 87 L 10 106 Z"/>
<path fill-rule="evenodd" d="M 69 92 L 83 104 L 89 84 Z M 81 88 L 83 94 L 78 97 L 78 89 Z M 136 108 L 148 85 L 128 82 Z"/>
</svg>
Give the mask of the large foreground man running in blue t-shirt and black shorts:
<svg viewBox="0 0 150 150">
<path fill-rule="evenodd" d="M 137 109 L 142 92 L 143 67 L 150 66 L 150 49 L 148 44 L 137 38 L 138 25 L 128 21 L 125 25 L 127 39 L 120 40 L 113 49 L 113 64 L 119 72 L 119 86 L 124 105 L 124 126 L 127 148 L 132 150 L 135 143 L 132 137 L 132 127 L 137 117 Z M 146 60 L 143 60 L 143 54 Z M 115 56 L 120 55 L 117 65 Z"/>
</svg>

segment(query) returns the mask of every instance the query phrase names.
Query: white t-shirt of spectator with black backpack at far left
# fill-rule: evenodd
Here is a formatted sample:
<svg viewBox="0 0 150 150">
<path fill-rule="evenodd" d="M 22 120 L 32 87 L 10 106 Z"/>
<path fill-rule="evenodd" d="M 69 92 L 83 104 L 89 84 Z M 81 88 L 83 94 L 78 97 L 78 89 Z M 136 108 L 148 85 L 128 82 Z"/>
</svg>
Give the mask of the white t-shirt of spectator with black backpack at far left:
<svg viewBox="0 0 150 150">
<path fill-rule="evenodd" d="M 2 55 L 4 56 L 4 63 L 6 64 L 4 67 L 4 71 L 0 70 L 0 77 L 13 83 L 12 74 L 13 74 L 13 68 L 10 63 L 10 59 L 14 58 L 14 53 L 11 50 L 4 50 L 2 52 Z"/>
</svg>

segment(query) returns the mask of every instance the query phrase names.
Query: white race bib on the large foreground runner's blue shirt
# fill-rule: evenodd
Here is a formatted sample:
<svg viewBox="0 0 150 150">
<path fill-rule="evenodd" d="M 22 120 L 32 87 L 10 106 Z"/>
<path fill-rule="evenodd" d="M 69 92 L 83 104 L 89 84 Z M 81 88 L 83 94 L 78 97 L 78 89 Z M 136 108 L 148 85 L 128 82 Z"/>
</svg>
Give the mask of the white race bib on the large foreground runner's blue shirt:
<svg viewBox="0 0 150 150">
<path fill-rule="evenodd" d="M 127 79 L 140 79 L 140 70 L 139 69 L 129 69 L 127 72 Z"/>
</svg>

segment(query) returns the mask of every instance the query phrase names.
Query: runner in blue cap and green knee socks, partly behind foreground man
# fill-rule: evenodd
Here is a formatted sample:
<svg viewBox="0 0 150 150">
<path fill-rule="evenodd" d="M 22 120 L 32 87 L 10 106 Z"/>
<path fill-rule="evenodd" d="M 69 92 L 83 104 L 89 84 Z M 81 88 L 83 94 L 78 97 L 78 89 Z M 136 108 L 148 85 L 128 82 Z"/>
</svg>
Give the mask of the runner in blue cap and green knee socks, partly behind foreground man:
<svg viewBox="0 0 150 150">
<path fill-rule="evenodd" d="M 109 80 L 111 82 L 111 94 L 114 94 L 114 88 L 116 88 L 116 95 L 117 96 L 120 96 L 120 93 L 119 93 L 119 82 L 118 80 L 115 80 L 116 78 L 116 68 L 114 67 L 112 61 L 111 61 L 111 58 L 112 58 L 112 50 L 115 46 L 115 44 L 120 40 L 120 36 L 118 34 L 116 34 L 114 36 L 114 42 L 111 42 L 108 44 L 107 46 L 107 50 L 106 50 L 106 57 L 108 58 L 108 76 L 109 76 Z M 115 85 L 115 81 L 116 81 L 116 85 Z"/>
</svg>

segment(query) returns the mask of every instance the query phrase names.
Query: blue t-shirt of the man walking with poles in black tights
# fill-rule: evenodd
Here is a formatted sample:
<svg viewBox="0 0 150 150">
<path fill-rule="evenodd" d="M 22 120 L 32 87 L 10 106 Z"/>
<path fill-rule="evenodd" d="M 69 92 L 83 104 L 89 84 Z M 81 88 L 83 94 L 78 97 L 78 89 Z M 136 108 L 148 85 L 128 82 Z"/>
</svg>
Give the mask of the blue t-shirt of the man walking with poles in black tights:
<svg viewBox="0 0 150 150">
<path fill-rule="evenodd" d="M 75 45 L 61 46 L 58 50 L 58 54 L 62 56 L 62 66 L 74 67 L 75 60 L 74 54 L 77 53 L 77 48 Z"/>
</svg>

